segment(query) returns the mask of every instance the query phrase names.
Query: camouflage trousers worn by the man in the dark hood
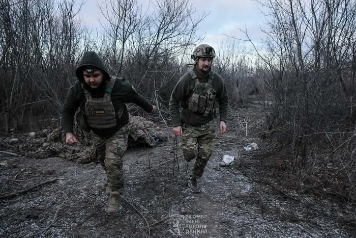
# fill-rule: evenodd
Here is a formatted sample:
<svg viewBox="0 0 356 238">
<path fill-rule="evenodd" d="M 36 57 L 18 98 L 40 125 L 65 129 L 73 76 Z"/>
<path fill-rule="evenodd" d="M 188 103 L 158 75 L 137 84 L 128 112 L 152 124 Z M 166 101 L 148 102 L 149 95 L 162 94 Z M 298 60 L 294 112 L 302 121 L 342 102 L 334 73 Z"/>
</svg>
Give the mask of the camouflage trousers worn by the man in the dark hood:
<svg viewBox="0 0 356 238">
<path fill-rule="evenodd" d="M 127 125 L 108 139 L 98 137 L 91 132 L 92 143 L 96 149 L 99 164 L 106 171 L 111 192 L 118 192 L 124 186 L 122 157 L 127 149 L 129 133 L 130 129 Z"/>
</svg>

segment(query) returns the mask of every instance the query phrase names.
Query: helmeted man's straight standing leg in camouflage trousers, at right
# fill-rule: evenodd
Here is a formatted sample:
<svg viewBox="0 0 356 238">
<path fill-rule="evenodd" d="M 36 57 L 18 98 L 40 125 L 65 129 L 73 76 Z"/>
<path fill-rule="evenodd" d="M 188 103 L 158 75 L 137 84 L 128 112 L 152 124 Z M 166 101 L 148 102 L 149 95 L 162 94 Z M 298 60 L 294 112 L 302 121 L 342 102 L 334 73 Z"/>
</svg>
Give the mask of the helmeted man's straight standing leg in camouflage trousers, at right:
<svg viewBox="0 0 356 238">
<path fill-rule="evenodd" d="M 192 169 L 192 177 L 200 178 L 203 175 L 204 168 L 212 155 L 215 142 L 214 142 L 215 130 L 211 125 L 204 130 L 204 134 L 198 138 L 198 155 L 195 160 L 194 167 Z"/>
</svg>

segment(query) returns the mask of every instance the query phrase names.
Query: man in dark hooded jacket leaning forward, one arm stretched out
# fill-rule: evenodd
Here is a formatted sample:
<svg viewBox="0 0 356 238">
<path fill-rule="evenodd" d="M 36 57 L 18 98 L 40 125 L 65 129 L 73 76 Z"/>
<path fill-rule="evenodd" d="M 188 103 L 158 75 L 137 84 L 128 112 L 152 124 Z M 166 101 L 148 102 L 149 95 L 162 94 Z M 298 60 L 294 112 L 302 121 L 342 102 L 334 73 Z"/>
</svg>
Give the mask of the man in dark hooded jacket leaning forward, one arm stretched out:
<svg viewBox="0 0 356 238">
<path fill-rule="evenodd" d="M 78 81 L 67 93 L 62 110 L 66 144 L 78 142 L 73 135 L 73 119 L 78 108 L 78 125 L 90 132 L 96 156 L 107 174 L 109 205 L 107 213 L 118 211 L 120 190 L 124 185 L 122 157 L 129 137 L 127 102 L 134 102 L 146 112 L 156 107 L 138 94 L 125 78 L 110 76 L 99 56 L 89 51 L 75 70 Z"/>
</svg>

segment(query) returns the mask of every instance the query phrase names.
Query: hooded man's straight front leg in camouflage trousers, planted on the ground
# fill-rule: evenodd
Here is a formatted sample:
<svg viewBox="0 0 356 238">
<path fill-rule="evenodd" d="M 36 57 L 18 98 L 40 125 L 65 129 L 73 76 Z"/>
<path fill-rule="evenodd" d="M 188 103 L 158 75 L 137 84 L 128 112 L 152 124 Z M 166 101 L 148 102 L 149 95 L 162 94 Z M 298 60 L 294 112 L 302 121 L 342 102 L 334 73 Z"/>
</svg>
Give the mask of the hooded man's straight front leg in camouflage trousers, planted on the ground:
<svg viewBox="0 0 356 238">
<path fill-rule="evenodd" d="M 124 186 L 122 157 L 127 149 L 129 132 L 125 125 L 106 141 L 105 166 L 111 193 L 118 193 Z"/>
</svg>

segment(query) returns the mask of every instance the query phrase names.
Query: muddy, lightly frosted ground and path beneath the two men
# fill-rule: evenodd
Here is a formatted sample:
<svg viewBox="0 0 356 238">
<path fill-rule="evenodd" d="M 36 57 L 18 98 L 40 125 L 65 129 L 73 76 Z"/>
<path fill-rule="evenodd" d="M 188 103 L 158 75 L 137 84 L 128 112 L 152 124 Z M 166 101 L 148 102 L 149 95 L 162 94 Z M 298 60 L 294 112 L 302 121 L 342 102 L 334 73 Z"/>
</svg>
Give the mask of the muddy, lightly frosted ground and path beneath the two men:
<svg viewBox="0 0 356 238">
<path fill-rule="evenodd" d="M 217 134 L 200 194 L 187 187 L 193 164 L 187 168 L 174 137 L 155 148 L 129 148 L 121 208 L 111 216 L 97 163 L 0 153 L 0 237 L 352 237 L 352 227 L 340 222 L 354 212 L 347 202 L 285 190 L 260 176 L 261 160 L 244 149 L 263 146 L 253 136 L 262 126 L 257 108 L 234 112 L 228 133 Z M 235 156 L 232 166 L 220 166 L 224 154 Z"/>
</svg>

